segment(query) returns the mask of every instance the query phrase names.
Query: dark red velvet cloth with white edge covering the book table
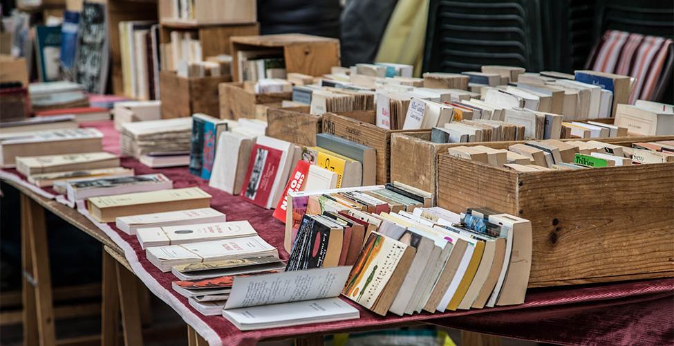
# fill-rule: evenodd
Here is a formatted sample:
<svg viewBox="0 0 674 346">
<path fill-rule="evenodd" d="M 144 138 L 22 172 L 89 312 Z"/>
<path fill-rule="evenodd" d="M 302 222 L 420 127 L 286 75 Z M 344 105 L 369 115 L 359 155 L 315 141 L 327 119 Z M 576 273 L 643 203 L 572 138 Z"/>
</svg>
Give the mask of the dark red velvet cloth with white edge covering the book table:
<svg viewBox="0 0 674 346">
<path fill-rule="evenodd" d="M 103 145 L 108 152 L 119 154 L 119 134 L 110 121 L 86 124 L 104 133 Z M 162 173 L 174 181 L 174 188 L 198 186 L 212 195 L 212 208 L 224 212 L 227 221 L 247 220 L 272 246 L 279 249 L 283 260 L 288 253 L 283 250 L 284 227 L 272 217 L 272 210 L 265 210 L 243 199 L 209 188 L 208 182 L 187 172 L 187 167 L 153 170 L 133 158 L 122 158 L 124 167 L 131 167 L 135 174 Z M 15 170 L 0 172 L 3 181 L 17 186 L 42 206 L 48 199 L 55 199 L 55 192 L 29 185 Z M 74 210 L 68 206 L 49 202 L 49 209 L 78 228 L 85 228 L 73 220 Z M 86 210 L 79 212 L 88 218 Z M 68 220 L 70 219 L 70 220 Z M 221 316 L 203 316 L 189 306 L 187 298 L 171 289 L 176 278 L 162 273 L 144 255 L 135 236 L 127 235 L 114 224 L 98 224 L 89 219 L 87 233 L 99 239 L 107 248 L 114 248 L 126 258 L 133 270 L 149 290 L 169 304 L 191 329 L 209 345 L 255 345 L 259 340 L 297 338 L 348 331 L 385 329 L 420 322 L 455 327 L 483 334 L 519 338 L 543 343 L 576 345 L 595 343 L 617 345 L 640 343 L 644 345 L 671 345 L 674 343 L 674 279 L 639 280 L 612 284 L 583 286 L 558 286 L 529 289 L 524 304 L 492 309 L 471 309 L 446 313 L 420 313 L 412 316 L 377 316 L 359 305 L 346 300 L 359 309 L 359 320 L 317 323 L 297 327 L 281 327 L 256 331 L 239 331 Z M 100 230 L 98 233 L 94 230 Z M 104 312 L 105 314 L 105 312 Z"/>
</svg>

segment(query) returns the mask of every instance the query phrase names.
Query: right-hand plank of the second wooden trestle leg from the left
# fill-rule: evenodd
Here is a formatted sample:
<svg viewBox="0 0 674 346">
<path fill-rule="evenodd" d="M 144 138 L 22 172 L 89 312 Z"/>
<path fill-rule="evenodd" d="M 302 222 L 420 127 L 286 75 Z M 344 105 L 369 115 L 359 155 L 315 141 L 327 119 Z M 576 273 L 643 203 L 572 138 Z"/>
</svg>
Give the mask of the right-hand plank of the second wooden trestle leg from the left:
<svg viewBox="0 0 674 346">
<path fill-rule="evenodd" d="M 117 266 L 117 282 L 120 293 L 120 307 L 122 308 L 124 345 L 142 345 L 138 284 L 136 284 L 138 278 L 119 262 L 115 265 Z"/>
</svg>

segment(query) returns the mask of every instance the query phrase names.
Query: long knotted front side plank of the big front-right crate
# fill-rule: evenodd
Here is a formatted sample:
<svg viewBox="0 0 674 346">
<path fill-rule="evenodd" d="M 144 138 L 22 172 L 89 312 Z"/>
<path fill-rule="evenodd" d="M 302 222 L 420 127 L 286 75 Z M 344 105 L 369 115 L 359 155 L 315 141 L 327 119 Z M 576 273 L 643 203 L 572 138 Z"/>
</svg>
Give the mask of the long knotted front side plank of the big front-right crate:
<svg viewBox="0 0 674 346">
<path fill-rule="evenodd" d="M 530 282 L 674 271 L 674 163 L 519 174 L 518 184 L 518 216 L 534 230 Z"/>
</svg>

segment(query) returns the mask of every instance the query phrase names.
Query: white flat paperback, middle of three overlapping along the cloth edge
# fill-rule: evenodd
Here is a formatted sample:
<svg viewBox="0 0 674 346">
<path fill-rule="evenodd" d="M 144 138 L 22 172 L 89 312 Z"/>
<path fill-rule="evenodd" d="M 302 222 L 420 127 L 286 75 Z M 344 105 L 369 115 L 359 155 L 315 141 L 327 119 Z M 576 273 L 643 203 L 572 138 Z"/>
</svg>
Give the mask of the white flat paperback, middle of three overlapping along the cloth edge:
<svg viewBox="0 0 674 346">
<path fill-rule="evenodd" d="M 192 224 L 138 228 L 138 242 L 142 248 L 149 246 L 206 242 L 215 239 L 250 237 L 257 235 L 248 221 L 217 222 L 213 224 Z"/>
</svg>

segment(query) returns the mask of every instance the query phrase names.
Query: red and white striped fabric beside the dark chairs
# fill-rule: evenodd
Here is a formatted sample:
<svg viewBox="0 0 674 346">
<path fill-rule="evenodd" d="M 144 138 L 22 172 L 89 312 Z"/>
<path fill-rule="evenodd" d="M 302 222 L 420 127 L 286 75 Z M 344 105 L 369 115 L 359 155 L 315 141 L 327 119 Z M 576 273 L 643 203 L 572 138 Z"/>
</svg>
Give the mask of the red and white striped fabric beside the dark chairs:
<svg viewBox="0 0 674 346">
<path fill-rule="evenodd" d="M 652 100 L 672 44 L 663 37 L 608 30 L 595 51 L 592 69 L 635 78 L 630 104 Z"/>
</svg>

